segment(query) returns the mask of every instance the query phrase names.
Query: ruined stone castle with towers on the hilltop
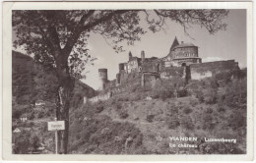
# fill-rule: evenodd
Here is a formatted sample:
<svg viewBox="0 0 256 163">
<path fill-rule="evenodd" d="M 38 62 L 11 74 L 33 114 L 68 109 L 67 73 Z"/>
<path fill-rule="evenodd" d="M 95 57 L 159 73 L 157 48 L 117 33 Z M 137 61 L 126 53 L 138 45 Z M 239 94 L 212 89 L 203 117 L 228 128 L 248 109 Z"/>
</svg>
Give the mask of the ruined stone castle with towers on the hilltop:
<svg viewBox="0 0 256 163">
<path fill-rule="evenodd" d="M 158 79 L 171 79 L 175 76 L 186 81 L 216 78 L 220 74 L 230 74 L 239 69 L 238 63 L 234 60 L 202 63 L 198 55 L 198 46 L 183 41 L 179 43 L 176 37 L 169 53 L 163 58 L 146 58 L 145 51 L 141 51 L 141 58 L 133 56 L 131 52 L 128 56 L 129 60 L 126 63 L 119 64 L 119 72 L 113 81 L 108 81 L 107 69 L 98 69 L 100 90 L 121 91 L 131 81 L 136 81 L 135 78 L 139 78 L 141 85 L 144 86 L 146 82 L 154 84 Z M 104 100 L 110 96 L 109 92 L 99 94 L 91 101 Z"/>
</svg>

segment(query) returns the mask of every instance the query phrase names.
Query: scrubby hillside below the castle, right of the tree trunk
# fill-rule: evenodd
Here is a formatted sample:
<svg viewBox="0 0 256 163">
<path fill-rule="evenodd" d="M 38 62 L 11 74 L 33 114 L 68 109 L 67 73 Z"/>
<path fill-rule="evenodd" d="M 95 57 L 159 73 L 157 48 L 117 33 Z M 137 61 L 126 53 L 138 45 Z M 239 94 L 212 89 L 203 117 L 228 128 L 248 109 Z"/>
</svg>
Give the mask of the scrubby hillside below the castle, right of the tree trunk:
<svg viewBox="0 0 256 163">
<path fill-rule="evenodd" d="M 187 94 L 178 98 L 171 96 L 171 88 L 163 83 L 144 89 L 137 85 L 73 112 L 70 153 L 246 152 L 246 78 L 227 80 L 225 84 L 214 79 L 191 81 Z M 209 138 L 230 142 L 207 141 Z"/>
</svg>

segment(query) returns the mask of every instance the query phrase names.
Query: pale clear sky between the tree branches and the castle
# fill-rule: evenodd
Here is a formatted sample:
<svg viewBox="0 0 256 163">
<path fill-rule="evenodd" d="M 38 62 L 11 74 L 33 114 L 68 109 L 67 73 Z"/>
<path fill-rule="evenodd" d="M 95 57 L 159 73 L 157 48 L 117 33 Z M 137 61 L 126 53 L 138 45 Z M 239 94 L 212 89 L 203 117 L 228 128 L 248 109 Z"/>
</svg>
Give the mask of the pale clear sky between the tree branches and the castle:
<svg viewBox="0 0 256 163">
<path fill-rule="evenodd" d="M 224 22 L 227 24 L 226 30 L 220 30 L 214 35 L 209 34 L 205 28 L 192 27 L 188 29 L 190 36 L 184 33 L 180 25 L 170 22 L 164 27 L 164 31 L 146 33 L 141 41 L 125 46 L 125 52 L 122 53 L 115 53 L 101 35 L 93 34 L 89 39 L 90 54 L 97 60 L 95 66 L 87 68 L 86 79 L 82 81 L 97 89 L 100 83 L 97 70 L 100 68 L 107 69 L 109 81 L 114 80 L 118 64 L 128 61 L 129 51 L 137 57 L 140 57 L 142 50 L 145 51 L 146 58 L 165 57 L 175 36 L 179 43 L 191 42 L 198 46 L 202 62 L 234 59 L 240 68 L 246 67 L 246 11 L 230 10 Z"/>
</svg>

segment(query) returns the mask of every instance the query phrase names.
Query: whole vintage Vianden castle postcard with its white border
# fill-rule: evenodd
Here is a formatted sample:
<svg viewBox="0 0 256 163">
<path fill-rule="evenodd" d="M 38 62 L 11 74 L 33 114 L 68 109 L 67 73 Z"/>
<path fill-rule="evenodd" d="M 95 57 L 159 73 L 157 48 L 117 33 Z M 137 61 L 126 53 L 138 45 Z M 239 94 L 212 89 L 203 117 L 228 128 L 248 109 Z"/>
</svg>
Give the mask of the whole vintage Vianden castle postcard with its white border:
<svg viewBox="0 0 256 163">
<path fill-rule="evenodd" d="M 12 9 L 9 154 L 251 153 L 247 9 L 119 5 Z"/>
</svg>

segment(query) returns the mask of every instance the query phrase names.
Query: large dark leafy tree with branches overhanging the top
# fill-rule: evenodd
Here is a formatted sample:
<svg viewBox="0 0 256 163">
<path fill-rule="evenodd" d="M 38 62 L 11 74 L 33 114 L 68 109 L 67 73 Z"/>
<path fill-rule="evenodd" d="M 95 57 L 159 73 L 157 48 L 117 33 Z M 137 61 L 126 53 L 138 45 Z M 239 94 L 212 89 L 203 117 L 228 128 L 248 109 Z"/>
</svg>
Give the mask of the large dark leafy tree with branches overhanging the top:
<svg viewBox="0 0 256 163">
<path fill-rule="evenodd" d="M 80 11 L 13 11 L 12 23 L 17 39 L 15 47 L 23 46 L 36 62 L 55 71 L 58 78 L 58 120 L 65 121 L 60 152 L 68 152 L 69 106 L 74 79 L 82 78 L 85 65 L 94 61 L 88 53 L 90 34 L 99 33 L 111 40 L 116 52 L 120 42 L 133 44 L 140 40 L 146 21 L 153 32 L 159 31 L 166 20 L 186 29 L 191 25 L 206 27 L 211 34 L 224 29 L 226 10 L 80 10 Z"/>
</svg>

